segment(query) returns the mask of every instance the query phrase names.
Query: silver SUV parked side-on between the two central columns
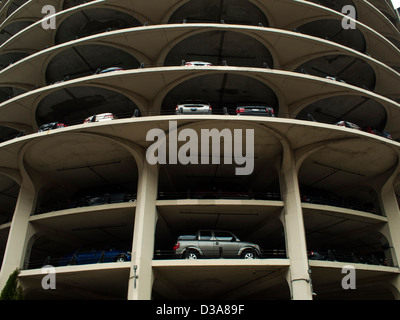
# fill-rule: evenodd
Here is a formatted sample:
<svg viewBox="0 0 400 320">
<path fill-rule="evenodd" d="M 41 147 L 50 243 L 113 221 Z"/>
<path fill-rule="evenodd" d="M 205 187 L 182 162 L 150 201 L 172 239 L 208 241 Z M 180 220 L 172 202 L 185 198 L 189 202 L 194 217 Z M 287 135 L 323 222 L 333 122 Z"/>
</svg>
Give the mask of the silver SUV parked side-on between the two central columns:
<svg viewBox="0 0 400 320">
<path fill-rule="evenodd" d="M 261 258 L 258 245 L 240 241 L 233 233 L 222 230 L 199 230 L 195 235 L 182 235 L 178 237 L 174 252 L 183 259 Z"/>
</svg>

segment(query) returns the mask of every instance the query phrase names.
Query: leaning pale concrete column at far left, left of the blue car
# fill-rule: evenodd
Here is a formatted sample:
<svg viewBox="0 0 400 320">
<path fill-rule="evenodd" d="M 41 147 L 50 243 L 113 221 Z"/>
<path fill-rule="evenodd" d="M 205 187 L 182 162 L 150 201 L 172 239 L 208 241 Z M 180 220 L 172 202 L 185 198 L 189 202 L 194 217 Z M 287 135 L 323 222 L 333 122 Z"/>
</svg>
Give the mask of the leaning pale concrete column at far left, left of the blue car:
<svg viewBox="0 0 400 320">
<path fill-rule="evenodd" d="M 23 181 L 4 253 L 0 272 L 0 290 L 3 289 L 8 277 L 15 269 L 24 268 L 27 245 L 34 233 L 34 229 L 30 227 L 29 217 L 35 210 L 36 195 L 37 190 L 34 185 Z"/>
</svg>

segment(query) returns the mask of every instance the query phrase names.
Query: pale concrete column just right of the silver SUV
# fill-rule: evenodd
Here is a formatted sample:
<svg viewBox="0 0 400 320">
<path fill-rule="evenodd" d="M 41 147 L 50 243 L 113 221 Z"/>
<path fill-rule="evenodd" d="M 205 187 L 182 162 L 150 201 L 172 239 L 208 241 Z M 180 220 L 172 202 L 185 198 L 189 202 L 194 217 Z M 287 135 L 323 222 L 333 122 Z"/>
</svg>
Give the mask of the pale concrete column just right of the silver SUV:
<svg viewBox="0 0 400 320">
<path fill-rule="evenodd" d="M 288 282 L 293 300 L 312 300 L 307 244 L 301 207 L 297 168 L 292 150 L 286 148 L 281 168 L 281 193 L 285 203 L 282 221 L 286 252 L 290 259 Z"/>
</svg>

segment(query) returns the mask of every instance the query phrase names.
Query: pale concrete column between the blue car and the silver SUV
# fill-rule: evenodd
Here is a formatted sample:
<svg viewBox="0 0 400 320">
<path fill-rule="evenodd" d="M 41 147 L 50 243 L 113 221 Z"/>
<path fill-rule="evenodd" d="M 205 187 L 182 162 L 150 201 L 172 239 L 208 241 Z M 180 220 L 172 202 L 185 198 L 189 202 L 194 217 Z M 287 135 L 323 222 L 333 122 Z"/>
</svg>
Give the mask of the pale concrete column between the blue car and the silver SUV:
<svg viewBox="0 0 400 320">
<path fill-rule="evenodd" d="M 158 167 L 144 160 L 142 170 L 139 171 L 128 300 L 151 299 L 157 190 Z"/>
</svg>

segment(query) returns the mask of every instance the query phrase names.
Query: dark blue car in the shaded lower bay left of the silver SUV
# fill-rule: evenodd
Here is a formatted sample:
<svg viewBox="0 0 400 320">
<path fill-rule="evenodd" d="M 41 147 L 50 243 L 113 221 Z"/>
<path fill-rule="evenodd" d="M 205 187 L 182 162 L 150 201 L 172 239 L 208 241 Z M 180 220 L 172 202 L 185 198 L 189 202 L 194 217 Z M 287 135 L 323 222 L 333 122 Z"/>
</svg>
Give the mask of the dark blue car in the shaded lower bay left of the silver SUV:
<svg viewBox="0 0 400 320">
<path fill-rule="evenodd" d="M 63 256 L 60 259 L 59 266 L 105 263 L 105 262 L 123 262 L 131 260 L 131 252 L 113 247 L 84 247 L 78 249 L 72 254 Z"/>
</svg>

